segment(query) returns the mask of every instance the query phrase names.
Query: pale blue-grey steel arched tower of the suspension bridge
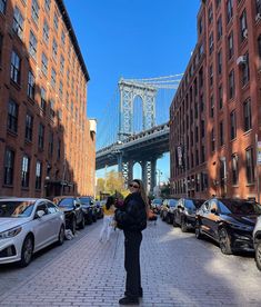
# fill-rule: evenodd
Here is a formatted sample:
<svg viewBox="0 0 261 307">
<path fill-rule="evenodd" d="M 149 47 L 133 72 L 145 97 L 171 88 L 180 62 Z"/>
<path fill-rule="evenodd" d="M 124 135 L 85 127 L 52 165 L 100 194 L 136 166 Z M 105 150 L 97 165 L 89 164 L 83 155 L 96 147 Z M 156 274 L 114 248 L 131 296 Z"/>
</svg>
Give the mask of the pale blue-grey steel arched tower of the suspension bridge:
<svg viewBox="0 0 261 307">
<path fill-rule="evenodd" d="M 155 126 L 155 96 L 157 88 L 132 80 L 120 79 L 120 115 L 119 115 L 119 132 L 118 141 L 121 142 L 124 138 L 134 132 L 133 129 L 133 101 L 135 97 L 142 100 L 142 130 L 147 130 Z M 142 181 L 144 187 L 151 191 L 155 186 L 155 162 L 158 157 L 141 159 L 134 161 L 124 157 L 121 151 L 118 152 L 118 171 L 122 172 L 126 182 L 133 179 L 133 165 L 139 162 L 142 170 Z"/>
</svg>

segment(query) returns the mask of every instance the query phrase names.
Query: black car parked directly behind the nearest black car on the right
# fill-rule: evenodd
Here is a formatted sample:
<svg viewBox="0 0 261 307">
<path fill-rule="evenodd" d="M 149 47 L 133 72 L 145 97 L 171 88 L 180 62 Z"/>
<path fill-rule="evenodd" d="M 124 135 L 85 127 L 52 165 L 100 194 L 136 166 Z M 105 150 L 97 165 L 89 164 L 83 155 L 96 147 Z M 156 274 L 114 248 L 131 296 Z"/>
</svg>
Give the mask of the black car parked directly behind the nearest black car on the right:
<svg viewBox="0 0 261 307">
<path fill-rule="evenodd" d="M 180 226 L 183 232 L 194 229 L 195 211 L 203 202 L 202 199 L 180 198 L 173 211 L 173 226 Z"/>
</svg>

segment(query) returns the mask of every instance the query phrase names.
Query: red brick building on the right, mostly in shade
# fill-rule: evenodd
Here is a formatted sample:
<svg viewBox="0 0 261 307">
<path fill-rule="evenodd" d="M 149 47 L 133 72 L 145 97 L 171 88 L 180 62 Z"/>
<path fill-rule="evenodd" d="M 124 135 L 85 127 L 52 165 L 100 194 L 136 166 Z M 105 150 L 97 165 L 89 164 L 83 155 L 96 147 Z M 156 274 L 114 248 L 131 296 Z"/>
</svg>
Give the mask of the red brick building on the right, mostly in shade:
<svg viewBox="0 0 261 307">
<path fill-rule="evenodd" d="M 207 0 L 170 108 L 172 195 L 258 199 L 261 1 Z"/>
</svg>

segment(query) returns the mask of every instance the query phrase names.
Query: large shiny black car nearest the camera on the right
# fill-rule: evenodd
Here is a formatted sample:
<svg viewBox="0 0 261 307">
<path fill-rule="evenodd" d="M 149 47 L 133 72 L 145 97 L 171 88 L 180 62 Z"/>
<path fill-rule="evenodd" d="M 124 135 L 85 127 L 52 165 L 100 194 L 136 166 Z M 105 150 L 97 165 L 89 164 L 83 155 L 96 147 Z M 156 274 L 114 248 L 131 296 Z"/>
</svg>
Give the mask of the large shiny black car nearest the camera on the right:
<svg viewBox="0 0 261 307">
<path fill-rule="evenodd" d="M 195 237 L 214 239 L 223 254 L 253 250 L 253 228 L 261 206 L 245 199 L 207 200 L 195 214 Z"/>
</svg>

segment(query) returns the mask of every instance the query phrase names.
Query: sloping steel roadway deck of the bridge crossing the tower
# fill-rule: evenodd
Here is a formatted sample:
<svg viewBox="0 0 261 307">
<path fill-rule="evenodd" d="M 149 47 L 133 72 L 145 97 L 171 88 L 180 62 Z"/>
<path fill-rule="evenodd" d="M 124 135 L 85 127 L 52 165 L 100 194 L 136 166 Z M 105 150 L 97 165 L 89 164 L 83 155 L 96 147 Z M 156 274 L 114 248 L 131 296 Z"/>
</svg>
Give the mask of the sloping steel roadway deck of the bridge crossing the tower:
<svg viewBox="0 0 261 307">
<path fill-rule="evenodd" d="M 129 160 L 141 161 L 151 157 L 159 158 L 169 151 L 169 122 L 150 128 L 139 133 L 132 133 L 124 140 L 104 147 L 97 151 L 96 169 L 119 165 Z"/>
</svg>

